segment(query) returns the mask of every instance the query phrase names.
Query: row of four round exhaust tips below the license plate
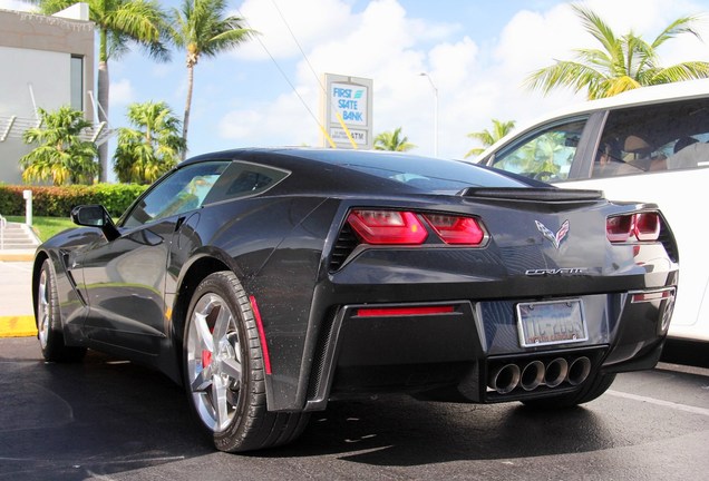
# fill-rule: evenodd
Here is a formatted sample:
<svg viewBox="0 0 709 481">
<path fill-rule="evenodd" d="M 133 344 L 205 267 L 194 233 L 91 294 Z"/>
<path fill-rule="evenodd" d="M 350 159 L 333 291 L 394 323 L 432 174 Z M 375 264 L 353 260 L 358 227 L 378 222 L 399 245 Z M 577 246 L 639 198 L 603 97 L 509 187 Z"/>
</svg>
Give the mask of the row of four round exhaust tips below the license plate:
<svg viewBox="0 0 709 481">
<path fill-rule="evenodd" d="M 571 362 L 555 357 L 546 364 L 535 360 L 522 365 L 508 363 L 495 367 L 491 372 L 488 386 L 498 394 L 508 394 L 517 386 L 524 391 L 534 391 L 541 385 L 556 387 L 564 382 L 577 386 L 589 374 L 591 360 L 586 356 L 576 357 Z"/>
</svg>

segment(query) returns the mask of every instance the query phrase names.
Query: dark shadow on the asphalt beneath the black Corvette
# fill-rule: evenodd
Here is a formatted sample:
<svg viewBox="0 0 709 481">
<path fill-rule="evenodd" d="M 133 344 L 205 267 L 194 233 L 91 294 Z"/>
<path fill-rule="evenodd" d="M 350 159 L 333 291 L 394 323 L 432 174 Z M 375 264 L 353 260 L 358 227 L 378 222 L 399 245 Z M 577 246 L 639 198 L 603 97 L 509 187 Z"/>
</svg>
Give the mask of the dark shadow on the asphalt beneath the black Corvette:
<svg viewBox="0 0 709 481">
<path fill-rule="evenodd" d="M 663 435 L 657 430 L 641 440 L 629 435 L 637 420 L 623 406 L 620 414 L 611 413 L 618 401 L 608 394 L 582 408 L 544 412 L 519 403 L 454 404 L 382 395 L 330 402 L 327 411 L 312 413 L 294 443 L 242 459 L 215 453 L 191 416 L 184 390 L 156 371 L 90 351 L 82 363 L 48 364 L 36 347 L 7 354 L 7 343 L 0 350 L 0 479 L 125 474 L 200 457 L 256 465 L 319 457 L 375 467 L 531 462 Z"/>
</svg>

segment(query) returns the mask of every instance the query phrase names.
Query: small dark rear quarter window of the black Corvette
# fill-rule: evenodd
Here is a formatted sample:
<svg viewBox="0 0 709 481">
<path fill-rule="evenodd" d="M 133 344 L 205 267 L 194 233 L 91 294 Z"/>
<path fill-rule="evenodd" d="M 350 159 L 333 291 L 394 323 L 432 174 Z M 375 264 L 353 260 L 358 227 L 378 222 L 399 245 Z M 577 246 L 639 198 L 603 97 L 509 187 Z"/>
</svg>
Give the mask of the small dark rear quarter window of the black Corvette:
<svg viewBox="0 0 709 481">
<path fill-rule="evenodd" d="M 216 181 L 204 204 L 263 194 L 290 175 L 286 170 L 234 160 Z"/>
</svg>

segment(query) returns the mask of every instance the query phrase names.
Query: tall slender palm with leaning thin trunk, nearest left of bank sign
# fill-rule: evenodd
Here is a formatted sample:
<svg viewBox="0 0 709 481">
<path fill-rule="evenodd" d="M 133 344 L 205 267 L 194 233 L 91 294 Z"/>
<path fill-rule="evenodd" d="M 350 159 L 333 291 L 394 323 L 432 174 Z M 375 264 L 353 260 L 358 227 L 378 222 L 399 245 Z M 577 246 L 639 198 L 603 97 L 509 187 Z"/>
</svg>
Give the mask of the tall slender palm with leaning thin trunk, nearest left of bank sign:
<svg viewBox="0 0 709 481">
<path fill-rule="evenodd" d="M 182 127 L 182 137 L 185 141 L 192 108 L 194 67 L 200 58 L 215 57 L 236 48 L 255 33 L 254 30 L 242 27 L 243 19 L 224 17 L 225 10 L 226 0 L 183 0 L 182 8 L 174 8 L 171 13 L 169 37 L 175 46 L 186 50 L 187 56 L 187 99 Z"/>
</svg>

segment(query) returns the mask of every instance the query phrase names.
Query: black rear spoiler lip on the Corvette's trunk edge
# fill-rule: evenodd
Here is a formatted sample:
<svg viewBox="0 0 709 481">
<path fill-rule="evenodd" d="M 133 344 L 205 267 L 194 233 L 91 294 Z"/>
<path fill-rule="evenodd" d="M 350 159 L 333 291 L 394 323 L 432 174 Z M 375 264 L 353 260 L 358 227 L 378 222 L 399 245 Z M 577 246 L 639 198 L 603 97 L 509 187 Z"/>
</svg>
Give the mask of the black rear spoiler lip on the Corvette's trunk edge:
<svg viewBox="0 0 709 481">
<path fill-rule="evenodd" d="M 562 189 L 556 187 L 468 187 L 457 195 L 462 197 L 507 200 L 584 202 L 604 198 L 602 190 Z"/>
</svg>

